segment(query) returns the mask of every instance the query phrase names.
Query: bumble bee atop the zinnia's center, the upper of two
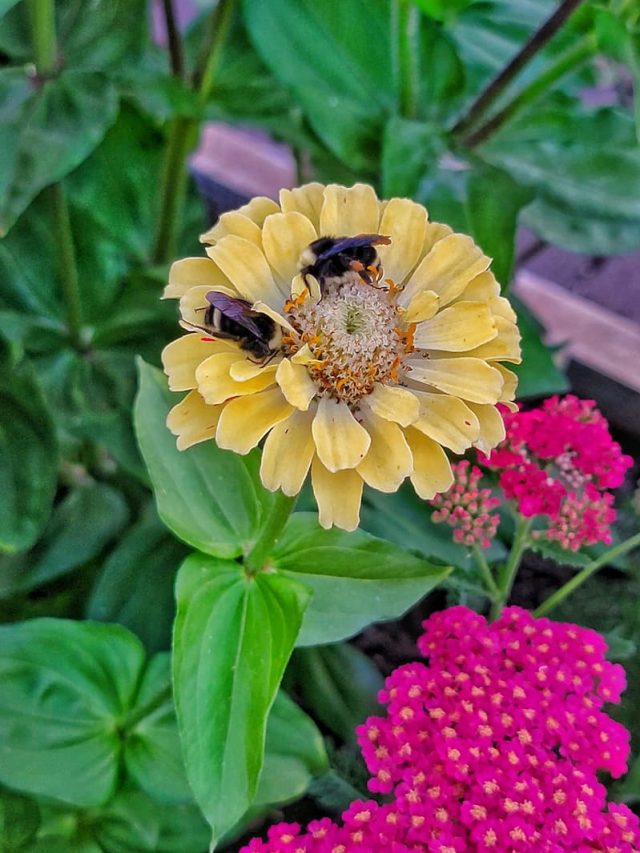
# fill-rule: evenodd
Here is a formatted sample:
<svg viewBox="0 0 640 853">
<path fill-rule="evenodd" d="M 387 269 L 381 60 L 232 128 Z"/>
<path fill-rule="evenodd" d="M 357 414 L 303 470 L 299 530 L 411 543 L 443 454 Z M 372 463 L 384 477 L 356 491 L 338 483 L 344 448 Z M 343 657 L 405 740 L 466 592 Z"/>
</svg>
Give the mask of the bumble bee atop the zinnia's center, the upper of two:
<svg viewBox="0 0 640 853">
<path fill-rule="evenodd" d="M 363 281 L 371 284 L 380 267 L 380 258 L 374 247 L 390 242 L 391 238 L 382 234 L 320 237 L 302 253 L 300 272 L 303 278 L 314 276 L 321 288 L 326 279 L 341 278 L 347 272 L 356 272 Z"/>
</svg>

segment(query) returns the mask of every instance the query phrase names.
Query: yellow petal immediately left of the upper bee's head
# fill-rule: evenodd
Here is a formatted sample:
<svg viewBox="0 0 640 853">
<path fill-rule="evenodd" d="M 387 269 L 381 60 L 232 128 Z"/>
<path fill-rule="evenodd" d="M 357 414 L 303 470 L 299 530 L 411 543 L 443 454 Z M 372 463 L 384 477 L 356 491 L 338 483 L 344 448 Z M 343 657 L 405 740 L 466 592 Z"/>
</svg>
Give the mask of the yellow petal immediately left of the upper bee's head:
<svg viewBox="0 0 640 853">
<path fill-rule="evenodd" d="M 287 294 L 300 271 L 300 255 L 317 238 L 315 228 L 301 213 L 274 213 L 265 219 L 262 247 L 275 278 Z"/>
</svg>

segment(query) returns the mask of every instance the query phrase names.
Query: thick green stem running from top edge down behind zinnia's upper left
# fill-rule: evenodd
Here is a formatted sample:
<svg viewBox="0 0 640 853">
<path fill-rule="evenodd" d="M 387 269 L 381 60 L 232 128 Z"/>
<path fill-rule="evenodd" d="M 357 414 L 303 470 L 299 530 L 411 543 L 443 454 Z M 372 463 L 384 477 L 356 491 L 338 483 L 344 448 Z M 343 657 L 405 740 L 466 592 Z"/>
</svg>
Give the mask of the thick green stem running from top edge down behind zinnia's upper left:
<svg viewBox="0 0 640 853">
<path fill-rule="evenodd" d="M 222 50 L 229 33 L 236 0 L 220 0 L 211 18 L 194 84 L 201 107 L 206 105 L 216 82 Z M 198 141 L 198 119 L 178 116 L 171 124 L 160 190 L 160 214 L 151 260 L 164 264 L 175 253 L 177 231 L 187 195 L 187 157 Z"/>
</svg>

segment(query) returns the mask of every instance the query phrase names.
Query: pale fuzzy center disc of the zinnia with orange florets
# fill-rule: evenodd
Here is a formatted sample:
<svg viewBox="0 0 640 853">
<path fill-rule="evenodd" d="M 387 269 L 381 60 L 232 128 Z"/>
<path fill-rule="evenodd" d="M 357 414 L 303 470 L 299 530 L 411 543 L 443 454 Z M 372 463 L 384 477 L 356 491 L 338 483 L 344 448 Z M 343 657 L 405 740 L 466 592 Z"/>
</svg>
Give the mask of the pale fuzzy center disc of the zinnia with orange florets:
<svg viewBox="0 0 640 853">
<path fill-rule="evenodd" d="M 292 304 L 287 318 L 317 359 L 308 368 L 319 396 L 355 408 L 376 382 L 399 378 L 407 336 L 389 291 L 354 274 L 325 282 L 319 302 Z"/>
</svg>

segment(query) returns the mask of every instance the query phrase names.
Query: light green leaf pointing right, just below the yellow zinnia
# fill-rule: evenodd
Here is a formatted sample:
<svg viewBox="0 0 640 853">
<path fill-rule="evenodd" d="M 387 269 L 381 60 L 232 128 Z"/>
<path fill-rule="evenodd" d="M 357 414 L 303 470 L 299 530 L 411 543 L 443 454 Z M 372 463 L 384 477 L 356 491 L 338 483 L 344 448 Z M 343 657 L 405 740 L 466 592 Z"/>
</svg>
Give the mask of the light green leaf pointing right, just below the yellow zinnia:
<svg viewBox="0 0 640 853">
<path fill-rule="evenodd" d="M 398 618 L 450 571 L 361 530 L 323 530 L 314 513 L 302 512 L 289 519 L 272 563 L 313 591 L 298 637 L 302 646 L 342 640 L 371 622 Z"/>
</svg>

